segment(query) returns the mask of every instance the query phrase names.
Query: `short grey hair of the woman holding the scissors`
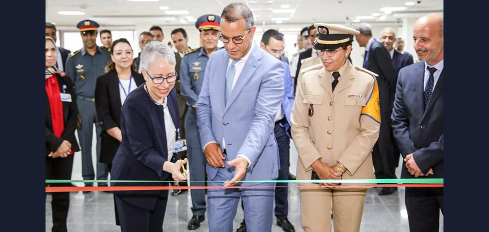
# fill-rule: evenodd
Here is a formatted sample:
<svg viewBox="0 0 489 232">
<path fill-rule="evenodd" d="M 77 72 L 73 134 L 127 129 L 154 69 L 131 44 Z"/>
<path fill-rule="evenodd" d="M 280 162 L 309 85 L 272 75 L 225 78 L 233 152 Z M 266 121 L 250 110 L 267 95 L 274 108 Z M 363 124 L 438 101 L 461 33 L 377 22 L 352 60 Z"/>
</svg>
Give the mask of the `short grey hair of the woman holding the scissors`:
<svg viewBox="0 0 489 232">
<path fill-rule="evenodd" d="M 175 53 L 168 45 L 160 41 L 151 41 L 144 46 L 144 50 L 141 52 L 141 67 L 144 68 L 144 70 L 147 70 L 157 58 L 167 60 L 173 65 L 176 63 Z"/>
</svg>

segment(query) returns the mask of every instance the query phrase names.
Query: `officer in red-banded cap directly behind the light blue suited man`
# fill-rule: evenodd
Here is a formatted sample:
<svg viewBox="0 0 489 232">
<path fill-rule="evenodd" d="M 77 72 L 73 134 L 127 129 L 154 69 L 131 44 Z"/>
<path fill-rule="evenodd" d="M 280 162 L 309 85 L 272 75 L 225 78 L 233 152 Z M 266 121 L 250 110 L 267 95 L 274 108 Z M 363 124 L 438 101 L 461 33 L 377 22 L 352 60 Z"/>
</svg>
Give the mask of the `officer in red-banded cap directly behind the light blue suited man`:
<svg viewBox="0 0 489 232">
<path fill-rule="evenodd" d="M 185 98 L 188 111 L 185 114 L 185 136 L 188 141 L 187 156 L 190 166 L 190 180 L 202 181 L 205 174 L 205 155 L 202 152 L 200 137 L 197 127 L 196 102 L 200 88 L 204 81 L 205 65 L 210 54 L 219 49 L 217 41 L 220 35 L 220 17 L 215 14 L 204 14 L 197 18 L 195 27 L 200 31 L 202 46 L 184 53 L 180 64 L 180 91 Z M 203 182 L 195 182 L 193 185 L 204 185 Z M 188 221 L 188 229 L 196 229 L 205 219 L 205 189 L 192 189 L 193 216 Z"/>
</svg>

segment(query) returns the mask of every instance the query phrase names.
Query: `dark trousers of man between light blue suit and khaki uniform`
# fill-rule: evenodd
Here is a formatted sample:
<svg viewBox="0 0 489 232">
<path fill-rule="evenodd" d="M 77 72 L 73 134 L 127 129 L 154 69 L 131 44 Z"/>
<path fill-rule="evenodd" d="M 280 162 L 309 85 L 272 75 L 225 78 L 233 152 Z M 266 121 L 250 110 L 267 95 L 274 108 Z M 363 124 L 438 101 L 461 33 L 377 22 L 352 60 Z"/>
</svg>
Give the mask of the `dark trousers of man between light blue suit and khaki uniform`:
<svg viewBox="0 0 489 232">
<path fill-rule="evenodd" d="M 275 139 L 278 145 L 278 156 L 280 160 L 280 169 L 278 170 L 278 179 L 288 179 L 288 166 L 289 166 L 289 149 L 290 140 L 285 133 L 285 128 L 280 126 L 279 122 L 285 122 L 284 119 L 275 123 L 273 132 L 275 133 Z M 288 199 L 287 183 L 276 183 L 275 188 L 275 216 L 277 218 L 286 218 L 288 214 Z"/>
</svg>

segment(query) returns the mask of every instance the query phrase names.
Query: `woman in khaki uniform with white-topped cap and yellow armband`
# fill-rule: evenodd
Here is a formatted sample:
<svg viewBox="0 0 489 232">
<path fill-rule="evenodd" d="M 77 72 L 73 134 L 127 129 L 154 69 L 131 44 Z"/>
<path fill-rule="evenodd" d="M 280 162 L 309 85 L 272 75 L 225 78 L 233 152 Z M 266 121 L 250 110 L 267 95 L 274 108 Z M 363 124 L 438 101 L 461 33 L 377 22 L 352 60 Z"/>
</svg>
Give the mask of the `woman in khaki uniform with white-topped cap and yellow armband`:
<svg viewBox="0 0 489 232">
<path fill-rule="evenodd" d="M 313 46 L 322 63 L 301 70 L 291 112 L 297 179 L 374 178 L 370 151 L 380 126 L 376 74 L 347 60 L 357 30 L 314 26 L 319 37 Z M 334 185 L 301 184 L 304 231 L 331 231 L 331 210 L 335 232 L 359 231 L 366 188 Z"/>
</svg>

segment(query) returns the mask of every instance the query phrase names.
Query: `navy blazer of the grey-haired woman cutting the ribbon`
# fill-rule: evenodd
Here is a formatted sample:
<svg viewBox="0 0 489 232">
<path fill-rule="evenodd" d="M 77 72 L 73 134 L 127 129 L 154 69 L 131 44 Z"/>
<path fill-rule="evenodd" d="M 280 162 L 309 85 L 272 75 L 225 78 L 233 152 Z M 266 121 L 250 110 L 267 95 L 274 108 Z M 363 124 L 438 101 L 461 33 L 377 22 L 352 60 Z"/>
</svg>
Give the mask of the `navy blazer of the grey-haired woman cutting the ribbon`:
<svg viewBox="0 0 489 232">
<path fill-rule="evenodd" d="M 173 88 L 168 95 L 168 109 L 175 128 L 178 128 L 178 105 Z M 166 180 L 171 175 L 163 171 L 168 160 L 163 106 L 155 104 L 144 90 L 144 84 L 134 89 L 121 109 L 122 141 L 112 161 L 112 179 Z M 174 160 L 175 156 L 171 161 Z M 162 186 L 167 183 L 112 183 L 114 186 Z M 167 191 L 114 191 L 124 201 L 140 208 L 153 210 L 158 196 Z"/>
</svg>

